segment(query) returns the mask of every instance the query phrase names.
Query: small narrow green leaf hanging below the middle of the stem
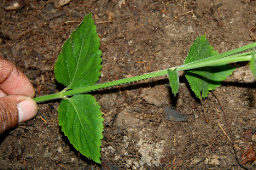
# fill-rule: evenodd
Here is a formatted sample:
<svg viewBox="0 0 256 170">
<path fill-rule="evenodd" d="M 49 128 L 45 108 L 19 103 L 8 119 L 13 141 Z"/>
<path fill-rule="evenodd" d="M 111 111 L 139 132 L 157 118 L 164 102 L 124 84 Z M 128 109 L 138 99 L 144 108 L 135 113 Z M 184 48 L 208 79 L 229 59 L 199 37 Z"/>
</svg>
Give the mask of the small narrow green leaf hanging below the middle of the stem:
<svg viewBox="0 0 256 170">
<path fill-rule="evenodd" d="M 177 74 L 177 67 L 175 67 L 174 69 L 167 69 L 167 75 L 169 77 L 169 83 L 172 88 L 172 94 L 176 96 L 179 88 L 179 78 Z"/>
</svg>

